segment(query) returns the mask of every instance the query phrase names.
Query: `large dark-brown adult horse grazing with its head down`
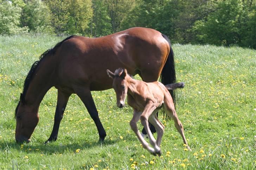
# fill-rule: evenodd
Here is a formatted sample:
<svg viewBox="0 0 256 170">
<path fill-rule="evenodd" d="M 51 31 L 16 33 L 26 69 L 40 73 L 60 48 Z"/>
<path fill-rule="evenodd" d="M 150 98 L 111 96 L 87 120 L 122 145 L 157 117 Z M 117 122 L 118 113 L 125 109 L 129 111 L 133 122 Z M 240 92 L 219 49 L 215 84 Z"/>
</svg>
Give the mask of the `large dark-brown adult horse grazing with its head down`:
<svg viewBox="0 0 256 170">
<path fill-rule="evenodd" d="M 103 141 L 106 132 L 91 91 L 112 88 L 106 70 L 119 67 L 131 75 L 139 74 L 146 82 L 158 80 L 160 74 L 164 84 L 176 80 L 171 43 L 154 29 L 135 27 L 101 38 L 70 36 L 44 52 L 28 72 L 15 110 L 16 141 L 30 141 L 39 121 L 39 104 L 53 86 L 58 89 L 57 107 L 46 142 L 57 140 L 60 121 L 73 93 L 83 101 Z M 171 94 L 174 97 L 173 91 Z"/>
</svg>

